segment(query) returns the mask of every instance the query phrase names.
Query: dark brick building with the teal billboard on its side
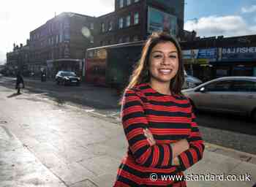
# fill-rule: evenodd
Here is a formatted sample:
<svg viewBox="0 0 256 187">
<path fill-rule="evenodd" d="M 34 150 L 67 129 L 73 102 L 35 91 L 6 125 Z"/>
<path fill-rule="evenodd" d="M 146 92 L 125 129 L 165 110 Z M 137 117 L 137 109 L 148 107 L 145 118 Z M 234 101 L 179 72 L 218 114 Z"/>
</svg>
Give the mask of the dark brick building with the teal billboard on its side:
<svg viewBox="0 0 256 187">
<path fill-rule="evenodd" d="M 143 40 L 152 31 L 184 36 L 184 0 L 115 0 L 115 11 L 97 18 L 96 46 Z"/>
</svg>

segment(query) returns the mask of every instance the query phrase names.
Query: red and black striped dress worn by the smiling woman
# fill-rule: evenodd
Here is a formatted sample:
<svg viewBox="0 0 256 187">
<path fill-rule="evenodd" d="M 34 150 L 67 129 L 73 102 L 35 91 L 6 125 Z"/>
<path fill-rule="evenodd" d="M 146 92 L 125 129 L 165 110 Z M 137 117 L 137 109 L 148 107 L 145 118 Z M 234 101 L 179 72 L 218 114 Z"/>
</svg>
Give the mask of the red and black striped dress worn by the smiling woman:
<svg viewBox="0 0 256 187">
<path fill-rule="evenodd" d="M 127 156 L 118 168 L 114 186 L 186 186 L 185 181 L 161 180 L 160 175 L 181 175 L 203 157 L 203 140 L 195 122 L 189 99 L 158 93 L 148 83 L 127 89 L 121 107 L 121 121 L 129 142 Z M 143 129 L 156 140 L 150 145 Z M 173 166 L 170 143 L 187 139 L 189 149 L 178 156 Z M 158 175 L 157 181 L 150 179 Z"/>
</svg>

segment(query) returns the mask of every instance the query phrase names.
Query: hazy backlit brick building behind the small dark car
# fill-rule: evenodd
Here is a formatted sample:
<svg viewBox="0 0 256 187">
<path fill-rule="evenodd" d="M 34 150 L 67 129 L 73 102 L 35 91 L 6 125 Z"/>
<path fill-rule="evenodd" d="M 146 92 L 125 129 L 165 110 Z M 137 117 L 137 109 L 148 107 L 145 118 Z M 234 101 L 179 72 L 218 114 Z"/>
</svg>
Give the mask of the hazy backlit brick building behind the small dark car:
<svg viewBox="0 0 256 187">
<path fill-rule="evenodd" d="M 94 45 L 95 18 L 63 12 L 30 32 L 31 72 L 59 70 L 80 72 L 85 49 Z"/>
</svg>

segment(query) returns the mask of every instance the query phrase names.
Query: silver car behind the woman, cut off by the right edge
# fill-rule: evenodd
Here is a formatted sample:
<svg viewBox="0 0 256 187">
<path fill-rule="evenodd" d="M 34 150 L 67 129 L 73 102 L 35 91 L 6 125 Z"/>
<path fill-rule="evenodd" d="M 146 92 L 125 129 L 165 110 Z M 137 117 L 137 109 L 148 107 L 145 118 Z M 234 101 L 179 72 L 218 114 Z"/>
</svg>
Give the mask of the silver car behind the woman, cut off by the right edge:
<svg viewBox="0 0 256 187">
<path fill-rule="evenodd" d="M 230 112 L 256 121 L 256 77 L 221 77 L 182 93 L 197 110 Z"/>
</svg>

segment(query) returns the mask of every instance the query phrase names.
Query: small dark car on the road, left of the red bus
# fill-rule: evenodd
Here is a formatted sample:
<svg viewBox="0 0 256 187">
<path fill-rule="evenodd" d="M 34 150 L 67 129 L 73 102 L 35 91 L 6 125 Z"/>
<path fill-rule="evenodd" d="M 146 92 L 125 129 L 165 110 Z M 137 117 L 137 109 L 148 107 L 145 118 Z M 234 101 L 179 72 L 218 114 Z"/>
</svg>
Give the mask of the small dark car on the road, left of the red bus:
<svg viewBox="0 0 256 187">
<path fill-rule="evenodd" d="M 59 71 L 55 80 L 58 85 L 80 85 L 80 77 L 75 72 Z"/>
</svg>

